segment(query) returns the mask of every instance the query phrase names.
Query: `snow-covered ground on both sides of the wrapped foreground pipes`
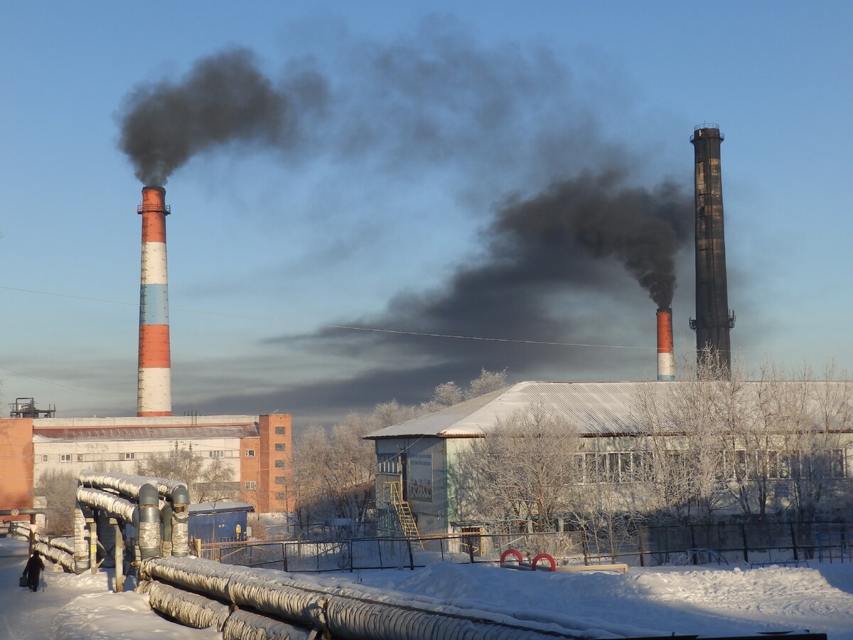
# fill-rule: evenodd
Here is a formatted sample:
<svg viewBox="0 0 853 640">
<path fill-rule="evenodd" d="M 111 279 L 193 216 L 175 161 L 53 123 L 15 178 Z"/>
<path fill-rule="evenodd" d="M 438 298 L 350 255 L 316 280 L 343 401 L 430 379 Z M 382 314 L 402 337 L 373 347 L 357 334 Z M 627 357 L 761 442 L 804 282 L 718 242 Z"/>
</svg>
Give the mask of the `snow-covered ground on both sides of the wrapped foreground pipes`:
<svg viewBox="0 0 853 640">
<path fill-rule="evenodd" d="M 46 572 L 43 590 L 20 589 L 25 562 L 25 543 L 0 539 L 0 638 L 218 637 L 162 620 L 148 609 L 146 596 L 110 593 L 112 574 Z M 584 637 L 809 630 L 853 640 L 850 563 L 534 573 L 439 562 L 415 571 L 300 574 L 299 579 L 427 608 L 510 615 Z"/>
</svg>

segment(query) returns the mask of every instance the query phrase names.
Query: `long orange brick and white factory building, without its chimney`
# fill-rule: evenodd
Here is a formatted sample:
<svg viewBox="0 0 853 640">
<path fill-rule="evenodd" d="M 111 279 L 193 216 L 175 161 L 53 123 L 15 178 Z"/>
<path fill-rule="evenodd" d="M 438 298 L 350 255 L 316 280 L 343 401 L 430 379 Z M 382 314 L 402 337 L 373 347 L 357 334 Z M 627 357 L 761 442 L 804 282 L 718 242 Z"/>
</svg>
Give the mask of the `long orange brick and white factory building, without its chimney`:
<svg viewBox="0 0 853 640">
<path fill-rule="evenodd" d="M 200 475 L 214 460 L 229 468 L 229 495 L 257 513 L 288 511 L 291 416 L 14 417 L 0 421 L 4 509 L 32 509 L 38 480 L 50 470 L 136 473 L 137 461 L 193 451 Z M 193 487 L 190 487 L 192 490 Z M 201 494 L 205 487 L 195 489 Z"/>
</svg>

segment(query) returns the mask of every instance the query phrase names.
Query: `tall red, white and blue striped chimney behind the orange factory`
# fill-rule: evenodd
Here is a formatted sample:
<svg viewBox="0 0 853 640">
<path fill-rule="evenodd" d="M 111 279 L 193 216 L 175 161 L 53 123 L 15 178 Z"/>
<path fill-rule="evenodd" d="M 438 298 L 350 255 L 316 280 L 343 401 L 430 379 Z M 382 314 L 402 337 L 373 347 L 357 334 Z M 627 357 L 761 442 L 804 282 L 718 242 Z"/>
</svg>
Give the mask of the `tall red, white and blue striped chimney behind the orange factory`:
<svg viewBox="0 0 853 640">
<path fill-rule="evenodd" d="M 142 277 L 139 290 L 139 383 L 137 416 L 171 416 L 169 291 L 165 260 L 163 187 L 142 189 Z"/>
</svg>

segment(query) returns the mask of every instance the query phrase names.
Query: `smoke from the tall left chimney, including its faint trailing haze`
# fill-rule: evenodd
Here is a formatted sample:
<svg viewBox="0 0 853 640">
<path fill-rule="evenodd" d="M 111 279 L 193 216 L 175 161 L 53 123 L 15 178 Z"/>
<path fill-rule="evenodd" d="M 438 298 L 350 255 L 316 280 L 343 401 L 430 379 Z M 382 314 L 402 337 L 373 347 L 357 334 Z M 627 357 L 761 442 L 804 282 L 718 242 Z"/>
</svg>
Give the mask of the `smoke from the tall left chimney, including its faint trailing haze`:
<svg viewBox="0 0 853 640">
<path fill-rule="evenodd" d="M 490 201 L 490 176 L 526 172 L 538 187 L 582 156 L 612 153 L 577 79 L 547 49 L 480 47 L 434 19 L 409 38 L 327 49 L 286 61 L 278 81 L 234 49 L 181 79 L 142 84 L 120 110 L 119 147 L 148 184 L 194 155 L 247 145 L 291 166 L 318 155 L 395 174 L 454 166 L 473 178 L 467 187 L 483 181 Z"/>
</svg>

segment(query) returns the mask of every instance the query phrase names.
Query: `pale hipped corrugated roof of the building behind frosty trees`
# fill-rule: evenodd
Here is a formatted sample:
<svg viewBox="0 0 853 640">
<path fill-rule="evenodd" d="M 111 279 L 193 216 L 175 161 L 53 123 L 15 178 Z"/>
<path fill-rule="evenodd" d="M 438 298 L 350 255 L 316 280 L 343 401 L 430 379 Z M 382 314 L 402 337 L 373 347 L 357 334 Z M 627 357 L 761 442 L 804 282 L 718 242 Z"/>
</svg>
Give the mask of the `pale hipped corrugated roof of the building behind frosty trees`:
<svg viewBox="0 0 853 640">
<path fill-rule="evenodd" d="M 639 433 L 642 420 L 637 415 L 640 393 L 648 393 L 660 406 L 676 397 L 690 382 L 519 382 L 502 391 L 456 404 L 429 416 L 368 433 L 365 438 L 477 437 L 494 430 L 498 419 L 531 404 L 561 416 L 582 435 Z M 821 382 L 815 385 L 827 384 Z M 828 383 L 844 384 L 844 383 Z M 746 382 L 746 393 L 757 393 L 759 382 Z"/>
</svg>

